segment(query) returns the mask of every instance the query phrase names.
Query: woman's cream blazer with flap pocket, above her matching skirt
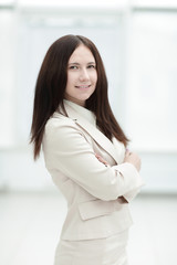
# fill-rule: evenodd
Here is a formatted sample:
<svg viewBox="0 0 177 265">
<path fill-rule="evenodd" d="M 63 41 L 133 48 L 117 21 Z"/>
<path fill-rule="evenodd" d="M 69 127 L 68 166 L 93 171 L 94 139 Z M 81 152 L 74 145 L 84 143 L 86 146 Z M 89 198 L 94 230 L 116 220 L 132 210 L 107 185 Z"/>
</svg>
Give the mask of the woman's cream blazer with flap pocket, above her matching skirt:
<svg viewBox="0 0 177 265">
<path fill-rule="evenodd" d="M 122 232 L 132 224 L 128 202 L 143 180 L 132 163 L 123 163 L 124 145 L 115 138 L 112 142 L 96 128 L 92 112 L 69 100 L 64 106 L 69 117 L 55 112 L 42 142 L 45 167 L 67 201 L 61 239 L 91 240 Z"/>
</svg>

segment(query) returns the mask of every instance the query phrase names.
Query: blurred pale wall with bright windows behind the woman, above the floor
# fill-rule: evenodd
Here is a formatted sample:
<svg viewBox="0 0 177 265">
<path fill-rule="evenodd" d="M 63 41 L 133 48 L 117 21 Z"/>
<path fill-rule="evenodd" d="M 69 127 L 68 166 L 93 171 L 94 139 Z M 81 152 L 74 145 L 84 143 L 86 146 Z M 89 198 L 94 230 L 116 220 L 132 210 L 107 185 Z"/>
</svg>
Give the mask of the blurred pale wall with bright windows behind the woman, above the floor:
<svg viewBox="0 0 177 265">
<path fill-rule="evenodd" d="M 143 160 L 143 192 L 177 192 L 177 12 L 137 11 L 126 1 L 108 9 L 20 2 L 0 10 L 0 189 L 55 189 L 28 141 L 41 62 L 53 41 L 71 33 L 101 52 L 111 105 Z"/>
</svg>

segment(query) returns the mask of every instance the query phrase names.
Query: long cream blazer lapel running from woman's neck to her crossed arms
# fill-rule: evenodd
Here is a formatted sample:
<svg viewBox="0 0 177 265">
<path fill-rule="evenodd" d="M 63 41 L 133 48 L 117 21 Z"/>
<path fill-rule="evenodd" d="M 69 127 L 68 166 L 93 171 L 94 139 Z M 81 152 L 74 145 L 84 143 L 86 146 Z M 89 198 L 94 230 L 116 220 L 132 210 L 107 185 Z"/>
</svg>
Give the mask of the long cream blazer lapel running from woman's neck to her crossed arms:
<svg viewBox="0 0 177 265">
<path fill-rule="evenodd" d="M 69 117 L 72 118 L 76 125 L 82 127 L 82 129 L 84 129 L 118 163 L 118 153 L 113 142 L 71 106 L 65 105 L 65 109 Z"/>
</svg>

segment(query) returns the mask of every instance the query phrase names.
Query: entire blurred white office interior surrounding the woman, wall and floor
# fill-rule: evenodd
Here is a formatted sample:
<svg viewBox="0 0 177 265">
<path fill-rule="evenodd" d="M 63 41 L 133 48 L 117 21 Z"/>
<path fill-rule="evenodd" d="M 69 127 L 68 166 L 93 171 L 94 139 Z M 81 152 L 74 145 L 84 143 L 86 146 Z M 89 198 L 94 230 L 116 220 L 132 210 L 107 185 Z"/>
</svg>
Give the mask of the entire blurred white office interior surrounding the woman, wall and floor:
<svg viewBox="0 0 177 265">
<path fill-rule="evenodd" d="M 0 264 L 52 264 L 66 205 L 29 134 L 40 65 L 65 34 L 98 47 L 143 160 L 129 264 L 177 264 L 177 0 L 0 0 Z"/>
</svg>

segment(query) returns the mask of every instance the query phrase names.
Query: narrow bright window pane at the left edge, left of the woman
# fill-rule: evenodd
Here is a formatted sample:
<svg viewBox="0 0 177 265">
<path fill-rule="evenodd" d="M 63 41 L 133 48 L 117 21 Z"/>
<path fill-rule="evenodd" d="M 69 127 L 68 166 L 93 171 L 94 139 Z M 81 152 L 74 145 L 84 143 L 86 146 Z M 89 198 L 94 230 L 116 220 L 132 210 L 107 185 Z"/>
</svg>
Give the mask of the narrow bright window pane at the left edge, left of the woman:
<svg viewBox="0 0 177 265">
<path fill-rule="evenodd" d="M 0 10 L 0 147 L 14 142 L 14 15 Z"/>
</svg>

